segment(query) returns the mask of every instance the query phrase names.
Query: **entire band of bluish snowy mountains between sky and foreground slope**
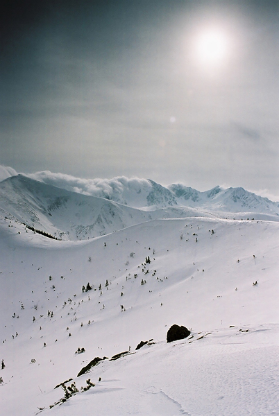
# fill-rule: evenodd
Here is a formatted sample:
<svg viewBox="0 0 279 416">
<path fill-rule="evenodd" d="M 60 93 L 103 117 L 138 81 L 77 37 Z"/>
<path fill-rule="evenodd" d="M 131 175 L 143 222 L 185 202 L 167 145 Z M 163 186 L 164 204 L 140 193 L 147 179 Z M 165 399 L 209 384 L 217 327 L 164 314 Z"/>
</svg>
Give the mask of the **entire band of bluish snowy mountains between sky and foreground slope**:
<svg viewBox="0 0 279 416">
<path fill-rule="evenodd" d="M 35 229 L 70 240 L 90 239 L 157 218 L 245 218 L 250 213 L 254 219 L 279 220 L 278 202 L 242 188 L 199 192 L 183 184 L 162 187 L 152 180 L 118 177 L 92 188 L 92 195 L 77 190 L 15 175 L 0 182 L 0 208 Z"/>
</svg>

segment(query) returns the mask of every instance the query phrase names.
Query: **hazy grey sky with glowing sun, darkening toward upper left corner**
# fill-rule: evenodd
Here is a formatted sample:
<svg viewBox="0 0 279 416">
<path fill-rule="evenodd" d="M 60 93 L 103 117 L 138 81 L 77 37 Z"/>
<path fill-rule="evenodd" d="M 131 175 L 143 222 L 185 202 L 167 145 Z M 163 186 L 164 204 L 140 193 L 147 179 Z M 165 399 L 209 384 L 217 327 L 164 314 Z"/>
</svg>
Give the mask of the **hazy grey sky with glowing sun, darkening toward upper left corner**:
<svg viewBox="0 0 279 416">
<path fill-rule="evenodd" d="M 1 164 L 279 195 L 279 1 L 8 0 L 0 19 Z"/>
</svg>

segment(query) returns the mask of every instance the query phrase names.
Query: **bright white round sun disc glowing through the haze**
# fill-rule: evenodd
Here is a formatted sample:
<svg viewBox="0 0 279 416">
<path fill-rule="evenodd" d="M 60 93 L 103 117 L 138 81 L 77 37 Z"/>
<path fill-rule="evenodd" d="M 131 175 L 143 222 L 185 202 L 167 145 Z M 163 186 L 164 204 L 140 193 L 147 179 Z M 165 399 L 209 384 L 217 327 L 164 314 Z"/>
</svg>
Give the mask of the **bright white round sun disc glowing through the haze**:
<svg viewBox="0 0 279 416">
<path fill-rule="evenodd" d="M 196 40 L 196 53 L 198 60 L 204 64 L 219 64 L 228 56 L 228 38 L 226 33 L 211 28 L 198 35 Z"/>
</svg>

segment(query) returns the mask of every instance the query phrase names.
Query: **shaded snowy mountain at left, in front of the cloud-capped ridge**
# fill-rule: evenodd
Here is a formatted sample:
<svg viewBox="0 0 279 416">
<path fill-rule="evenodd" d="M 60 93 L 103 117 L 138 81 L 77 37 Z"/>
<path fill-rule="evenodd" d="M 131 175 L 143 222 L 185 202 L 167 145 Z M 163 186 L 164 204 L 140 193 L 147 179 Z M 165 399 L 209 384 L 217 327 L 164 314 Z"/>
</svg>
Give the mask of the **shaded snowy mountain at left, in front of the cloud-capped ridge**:
<svg viewBox="0 0 279 416">
<path fill-rule="evenodd" d="M 8 218 L 17 218 L 29 227 L 63 240 L 91 239 L 156 218 L 205 215 L 177 206 L 155 209 L 155 202 L 159 207 L 164 205 L 167 193 L 170 192 L 154 182 L 146 198 L 153 205 L 149 211 L 17 175 L 0 182 L 0 209 Z"/>
</svg>

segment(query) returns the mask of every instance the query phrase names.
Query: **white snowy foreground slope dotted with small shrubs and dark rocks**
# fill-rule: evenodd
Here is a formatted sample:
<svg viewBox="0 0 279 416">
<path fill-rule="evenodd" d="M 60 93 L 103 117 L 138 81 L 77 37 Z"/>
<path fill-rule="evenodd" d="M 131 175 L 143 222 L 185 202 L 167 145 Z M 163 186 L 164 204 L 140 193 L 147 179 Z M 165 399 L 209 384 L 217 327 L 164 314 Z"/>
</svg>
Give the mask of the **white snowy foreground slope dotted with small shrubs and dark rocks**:
<svg viewBox="0 0 279 416">
<path fill-rule="evenodd" d="M 28 193 L 18 177 L 2 184 L 11 180 L 17 190 L 6 188 L 0 216 L 1 415 L 279 415 L 278 221 L 185 208 L 186 218 L 176 218 L 181 207 L 116 204 L 132 224 L 119 228 L 115 215 L 111 234 L 56 241 L 22 224 L 31 202 L 47 224 L 38 213 L 54 187 Z M 59 227 L 86 198 L 76 195 L 51 211 Z M 85 225 L 91 209 L 112 203 L 87 198 Z M 167 344 L 172 324 L 191 335 Z M 135 351 L 141 340 L 151 341 Z M 85 352 L 75 354 L 78 347 Z M 120 352 L 128 354 L 111 361 Z M 77 377 L 97 356 L 108 358 Z M 55 387 L 69 379 L 78 392 L 59 402 Z M 95 386 L 82 391 L 87 379 Z"/>
</svg>

